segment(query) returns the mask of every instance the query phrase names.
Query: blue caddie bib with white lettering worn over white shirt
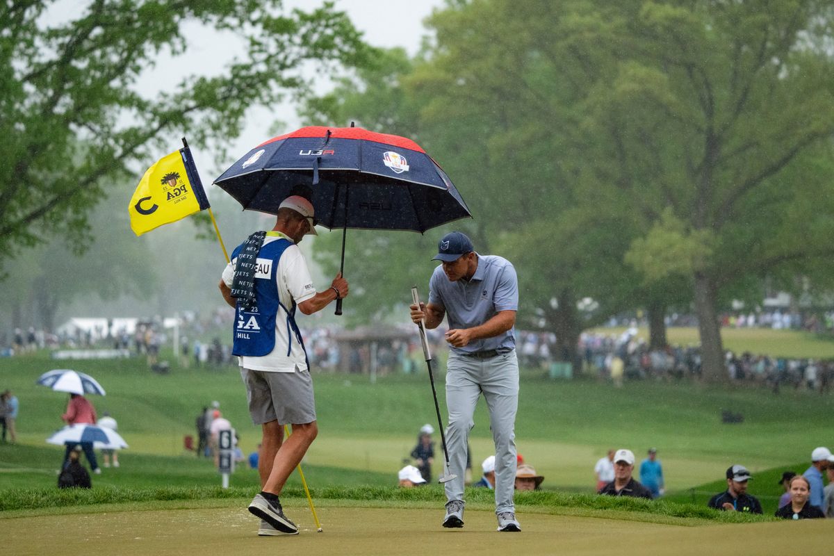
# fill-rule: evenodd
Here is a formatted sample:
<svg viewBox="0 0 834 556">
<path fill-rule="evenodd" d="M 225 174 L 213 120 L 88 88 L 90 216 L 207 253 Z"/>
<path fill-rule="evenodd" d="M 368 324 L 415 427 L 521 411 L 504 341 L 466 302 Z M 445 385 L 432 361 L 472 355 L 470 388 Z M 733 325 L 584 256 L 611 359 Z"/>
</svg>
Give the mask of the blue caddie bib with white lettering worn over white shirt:
<svg viewBox="0 0 834 556">
<path fill-rule="evenodd" d="M 293 243 L 286 239 L 279 239 L 265 244 L 258 253 L 254 272 L 254 305 L 247 307 L 242 298 L 238 299 L 234 315 L 234 355 L 262 357 L 272 352 L 275 347 L 275 320 L 279 308 L 287 315 L 288 348 L 292 346 L 292 334 L 301 343 L 301 334 L 295 323 L 295 303 L 291 309 L 284 307 L 278 295 L 278 285 L 275 273 L 278 272 L 278 262 L 286 248 Z M 240 250 L 246 244 L 234 249 L 232 258 L 239 256 Z M 303 344 L 302 344 L 303 345 Z M 289 356 L 289 352 L 287 353 Z"/>
</svg>

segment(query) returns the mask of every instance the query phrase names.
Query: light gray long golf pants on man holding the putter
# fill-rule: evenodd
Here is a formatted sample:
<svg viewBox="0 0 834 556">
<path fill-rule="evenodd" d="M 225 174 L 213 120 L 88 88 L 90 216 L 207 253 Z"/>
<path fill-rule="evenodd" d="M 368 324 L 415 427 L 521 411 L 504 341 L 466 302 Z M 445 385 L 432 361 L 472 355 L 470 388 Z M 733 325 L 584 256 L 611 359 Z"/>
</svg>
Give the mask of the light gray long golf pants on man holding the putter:
<svg viewBox="0 0 834 556">
<path fill-rule="evenodd" d="M 457 478 L 445 483 L 446 498 L 464 499 L 464 473 L 475 404 L 484 393 L 495 441 L 495 513 L 515 512 L 515 412 L 519 405 L 519 364 L 515 350 L 489 359 L 449 354 L 446 408 L 449 470 Z M 475 466 L 475 462 L 473 462 Z"/>
</svg>

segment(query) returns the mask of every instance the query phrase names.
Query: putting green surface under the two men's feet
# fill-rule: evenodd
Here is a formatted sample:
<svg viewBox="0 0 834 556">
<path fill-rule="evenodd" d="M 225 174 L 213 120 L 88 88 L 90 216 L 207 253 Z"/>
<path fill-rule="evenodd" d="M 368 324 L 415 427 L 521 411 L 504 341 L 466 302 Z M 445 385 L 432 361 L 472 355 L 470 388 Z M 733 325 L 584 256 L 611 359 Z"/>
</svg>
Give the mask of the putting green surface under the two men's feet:
<svg viewBox="0 0 834 556">
<path fill-rule="evenodd" d="M 442 508 L 347 508 L 317 506 L 323 533 L 316 533 L 304 501 L 288 501 L 288 515 L 301 533 L 258 537 L 258 520 L 244 508 L 179 508 L 101 511 L 0 518 L 6 553 L 118 553 L 204 556 L 207 553 L 257 554 L 264 550 L 306 554 L 409 554 L 442 550 L 465 554 L 693 554 L 811 553 L 825 551 L 834 523 L 802 522 L 698 524 L 696 520 L 643 523 L 618 518 L 588 518 L 545 513 L 518 517 L 522 533 L 495 532 L 495 514 L 467 509 L 463 529 L 440 527 Z M 82 513 L 85 509 L 97 513 Z M 637 517 L 637 516 L 633 516 Z M 677 523 L 677 524 L 676 524 Z M 693 525 L 693 523 L 695 523 Z"/>
</svg>

